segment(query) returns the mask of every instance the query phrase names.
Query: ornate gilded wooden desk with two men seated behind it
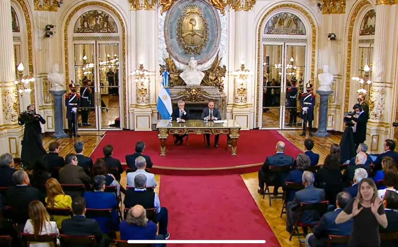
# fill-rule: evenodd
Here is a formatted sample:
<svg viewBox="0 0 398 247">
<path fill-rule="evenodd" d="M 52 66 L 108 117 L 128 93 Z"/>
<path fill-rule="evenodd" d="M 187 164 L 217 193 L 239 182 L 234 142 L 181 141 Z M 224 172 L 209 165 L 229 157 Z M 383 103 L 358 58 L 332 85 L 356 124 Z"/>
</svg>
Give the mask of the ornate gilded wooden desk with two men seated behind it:
<svg viewBox="0 0 398 247">
<path fill-rule="evenodd" d="M 236 156 L 241 127 L 233 119 L 227 121 L 227 123 L 214 123 L 203 120 L 187 120 L 185 123 L 176 121 L 170 123 L 166 119 L 158 120 L 156 128 L 160 139 L 160 156 L 166 156 L 166 142 L 169 134 L 226 134 L 232 156 Z"/>
</svg>

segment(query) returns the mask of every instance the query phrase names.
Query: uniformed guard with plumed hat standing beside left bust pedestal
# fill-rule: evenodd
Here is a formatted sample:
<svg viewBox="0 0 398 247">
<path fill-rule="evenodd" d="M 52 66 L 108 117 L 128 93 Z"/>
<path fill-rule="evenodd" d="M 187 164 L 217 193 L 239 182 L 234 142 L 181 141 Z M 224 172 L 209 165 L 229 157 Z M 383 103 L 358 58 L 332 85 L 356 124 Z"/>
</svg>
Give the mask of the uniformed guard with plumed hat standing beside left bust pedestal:
<svg viewBox="0 0 398 247">
<path fill-rule="evenodd" d="M 76 84 L 74 84 L 73 82 L 69 84 L 69 89 L 70 93 L 65 96 L 66 118 L 68 119 L 69 137 L 80 137 L 77 134 L 77 119 L 78 108 L 80 106 L 80 96 L 77 94 Z"/>
</svg>

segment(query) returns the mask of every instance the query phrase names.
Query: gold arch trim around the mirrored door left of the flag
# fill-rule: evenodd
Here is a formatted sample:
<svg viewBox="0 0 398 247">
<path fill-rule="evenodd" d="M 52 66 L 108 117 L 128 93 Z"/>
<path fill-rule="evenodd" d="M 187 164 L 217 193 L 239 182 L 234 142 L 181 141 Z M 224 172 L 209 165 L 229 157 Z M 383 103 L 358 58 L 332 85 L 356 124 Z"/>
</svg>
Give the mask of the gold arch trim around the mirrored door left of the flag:
<svg viewBox="0 0 398 247">
<path fill-rule="evenodd" d="M 23 0 L 18 0 L 18 1 L 23 1 Z M 76 12 L 78 12 L 79 10 L 81 10 L 82 8 L 88 7 L 88 6 L 100 6 L 103 7 L 107 10 L 109 10 L 110 12 L 112 12 L 112 14 L 114 16 L 116 16 L 117 20 L 119 21 L 120 25 L 121 25 L 121 43 L 122 43 L 122 57 L 121 57 L 121 61 L 123 61 L 123 65 L 125 66 L 125 62 L 126 62 L 126 30 L 125 30 L 125 25 L 123 22 L 123 19 L 121 18 L 121 16 L 119 15 L 119 13 L 112 8 L 111 6 L 103 3 L 103 2 L 85 2 L 84 4 L 81 4 L 79 6 L 77 6 L 74 10 L 72 10 L 72 12 L 70 12 L 69 16 L 66 18 L 65 21 L 65 25 L 64 25 L 64 56 L 65 56 L 65 81 L 69 82 L 69 41 L 68 41 L 68 29 L 69 29 L 69 24 L 70 24 L 70 20 L 72 19 L 72 17 L 76 14 Z M 122 78 L 121 78 L 121 82 L 122 83 L 122 93 L 123 93 L 123 127 L 127 128 L 127 95 L 126 95 L 126 70 L 123 68 L 122 71 Z"/>
</svg>

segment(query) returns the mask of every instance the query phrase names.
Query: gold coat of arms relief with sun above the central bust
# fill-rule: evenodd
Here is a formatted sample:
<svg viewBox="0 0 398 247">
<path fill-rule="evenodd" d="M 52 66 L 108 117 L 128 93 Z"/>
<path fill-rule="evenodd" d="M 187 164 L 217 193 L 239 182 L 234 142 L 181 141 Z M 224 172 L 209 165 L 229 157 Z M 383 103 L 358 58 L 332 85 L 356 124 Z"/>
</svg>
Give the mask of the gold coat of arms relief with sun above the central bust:
<svg viewBox="0 0 398 247">
<path fill-rule="evenodd" d="M 177 41 L 185 54 L 201 54 L 209 40 L 209 25 L 197 4 L 187 4 L 178 18 Z"/>
</svg>

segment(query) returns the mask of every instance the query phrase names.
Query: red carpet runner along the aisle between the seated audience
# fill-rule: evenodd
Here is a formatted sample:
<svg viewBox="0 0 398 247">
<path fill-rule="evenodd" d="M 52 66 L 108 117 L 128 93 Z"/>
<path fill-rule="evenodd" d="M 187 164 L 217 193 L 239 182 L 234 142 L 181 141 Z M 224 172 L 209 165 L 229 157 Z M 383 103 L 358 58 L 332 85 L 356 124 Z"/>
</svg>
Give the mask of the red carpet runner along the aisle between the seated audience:
<svg viewBox="0 0 398 247">
<path fill-rule="evenodd" d="M 160 204 L 168 208 L 170 239 L 266 241 L 265 244 L 209 244 L 203 247 L 281 246 L 240 175 L 163 175 L 160 178 Z"/>
</svg>

